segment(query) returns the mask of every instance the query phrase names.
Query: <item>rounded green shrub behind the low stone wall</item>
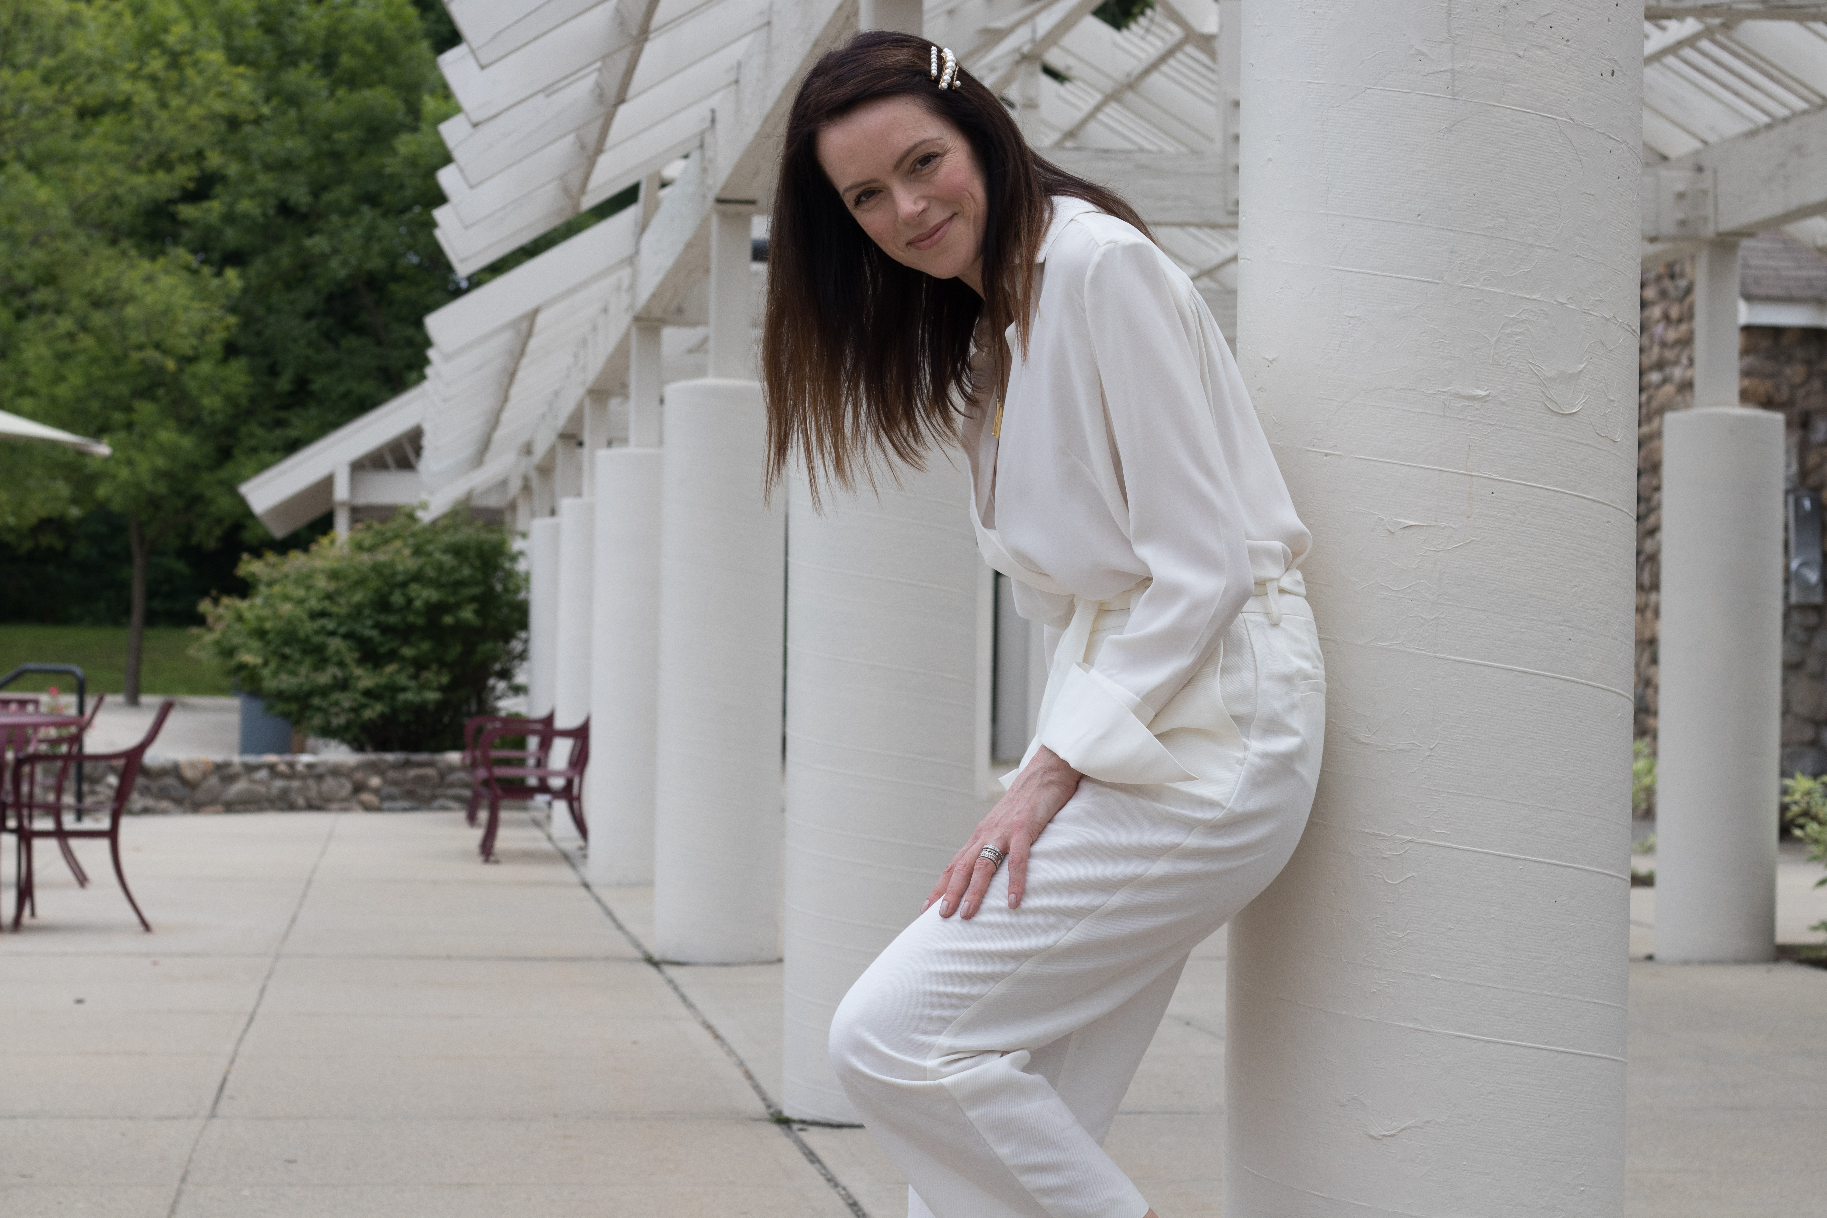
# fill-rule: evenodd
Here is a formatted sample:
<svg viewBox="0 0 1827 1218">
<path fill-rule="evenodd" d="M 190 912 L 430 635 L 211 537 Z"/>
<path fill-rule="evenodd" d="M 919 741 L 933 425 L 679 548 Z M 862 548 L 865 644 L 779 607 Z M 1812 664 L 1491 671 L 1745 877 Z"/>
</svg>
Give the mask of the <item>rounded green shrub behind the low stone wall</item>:
<svg viewBox="0 0 1827 1218">
<path fill-rule="evenodd" d="M 365 752 L 462 745 L 526 650 L 526 577 L 508 533 L 402 511 L 347 541 L 241 561 L 245 597 L 203 603 L 195 654 L 294 727 Z"/>
</svg>

